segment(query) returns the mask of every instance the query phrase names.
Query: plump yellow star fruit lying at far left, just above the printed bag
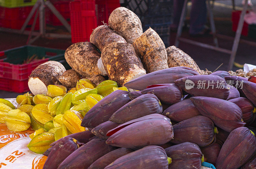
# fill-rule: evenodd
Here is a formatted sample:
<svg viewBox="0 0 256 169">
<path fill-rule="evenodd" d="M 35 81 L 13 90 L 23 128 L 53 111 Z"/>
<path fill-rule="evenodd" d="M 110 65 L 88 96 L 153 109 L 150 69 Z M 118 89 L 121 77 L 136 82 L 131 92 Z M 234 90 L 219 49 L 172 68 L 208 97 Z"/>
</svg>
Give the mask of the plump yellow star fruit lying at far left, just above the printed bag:
<svg viewBox="0 0 256 169">
<path fill-rule="evenodd" d="M 19 109 L 11 110 L 4 117 L 5 124 L 9 130 L 24 131 L 30 127 L 30 117 Z"/>
</svg>

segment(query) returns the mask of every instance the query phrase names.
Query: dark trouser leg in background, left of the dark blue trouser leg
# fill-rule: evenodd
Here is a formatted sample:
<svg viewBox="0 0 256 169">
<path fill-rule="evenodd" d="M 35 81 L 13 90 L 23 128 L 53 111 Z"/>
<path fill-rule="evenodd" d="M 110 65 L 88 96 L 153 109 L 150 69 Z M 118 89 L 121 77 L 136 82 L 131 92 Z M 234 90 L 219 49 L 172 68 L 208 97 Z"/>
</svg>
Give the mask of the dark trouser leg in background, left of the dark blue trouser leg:
<svg viewBox="0 0 256 169">
<path fill-rule="evenodd" d="M 171 25 L 172 28 L 177 28 L 179 25 L 183 4 L 184 0 L 173 1 L 173 23 Z"/>
</svg>

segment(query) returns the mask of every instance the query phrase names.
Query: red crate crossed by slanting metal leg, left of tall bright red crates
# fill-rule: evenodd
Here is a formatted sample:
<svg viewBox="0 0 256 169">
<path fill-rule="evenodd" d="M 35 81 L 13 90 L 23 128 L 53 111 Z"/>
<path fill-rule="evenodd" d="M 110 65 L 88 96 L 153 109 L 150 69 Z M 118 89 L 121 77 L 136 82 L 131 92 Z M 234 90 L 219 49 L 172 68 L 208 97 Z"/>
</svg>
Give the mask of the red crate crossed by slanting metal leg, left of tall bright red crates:
<svg viewBox="0 0 256 169">
<path fill-rule="evenodd" d="M 51 3 L 60 12 L 60 14 L 65 18 L 70 24 L 70 11 L 69 3 L 70 0 L 51 0 Z M 60 20 L 48 9 L 46 12 L 47 23 L 53 26 L 60 26 L 62 23 Z"/>
</svg>

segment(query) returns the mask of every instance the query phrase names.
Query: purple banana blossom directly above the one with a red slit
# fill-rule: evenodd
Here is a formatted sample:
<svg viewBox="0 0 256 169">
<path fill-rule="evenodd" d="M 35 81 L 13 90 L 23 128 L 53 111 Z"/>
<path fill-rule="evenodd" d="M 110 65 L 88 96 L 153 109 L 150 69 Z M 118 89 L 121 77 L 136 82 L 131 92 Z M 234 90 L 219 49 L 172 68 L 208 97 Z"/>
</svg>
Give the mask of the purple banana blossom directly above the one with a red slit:
<svg viewBox="0 0 256 169">
<path fill-rule="evenodd" d="M 145 115 L 160 114 L 162 112 L 163 108 L 159 99 L 153 94 L 145 94 L 118 109 L 109 120 L 115 123 L 125 123 Z"/>
</svg>

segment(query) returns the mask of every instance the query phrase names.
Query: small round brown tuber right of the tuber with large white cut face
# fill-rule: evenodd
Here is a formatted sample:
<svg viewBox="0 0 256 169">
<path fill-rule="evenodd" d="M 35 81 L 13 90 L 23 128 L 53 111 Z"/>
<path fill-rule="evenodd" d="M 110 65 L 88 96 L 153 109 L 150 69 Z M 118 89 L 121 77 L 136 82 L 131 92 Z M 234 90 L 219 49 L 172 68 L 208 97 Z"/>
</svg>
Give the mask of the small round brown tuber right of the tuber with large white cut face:
<svg viewBox="0 0 256 169">
<path fill-rule="evenodd" d="M 62 85 L 67 88 L 75 88 L 76 81 L 79 81 L 80 75 L 74 69 L 66 70 L 59 78 Z"/>
</svg>

